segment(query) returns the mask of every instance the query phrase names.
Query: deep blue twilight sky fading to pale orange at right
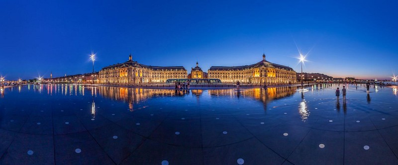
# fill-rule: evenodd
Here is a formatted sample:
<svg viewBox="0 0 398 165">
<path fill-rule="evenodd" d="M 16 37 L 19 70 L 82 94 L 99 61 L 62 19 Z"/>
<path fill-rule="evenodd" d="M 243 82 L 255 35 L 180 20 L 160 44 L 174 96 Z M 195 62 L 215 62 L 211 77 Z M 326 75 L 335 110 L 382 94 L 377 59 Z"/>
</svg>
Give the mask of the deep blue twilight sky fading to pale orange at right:
<svg viewBox="0 0 398 165">
<path fill-rule="evenodd" d="M 152 66 L 262 60 L 333 77 L 398 74 L 397 0 L 1 0 L 0 75 L 92 72 L 128 60 Z M 297 46 L 296 46 L 297 45 Z"/>
</svg>

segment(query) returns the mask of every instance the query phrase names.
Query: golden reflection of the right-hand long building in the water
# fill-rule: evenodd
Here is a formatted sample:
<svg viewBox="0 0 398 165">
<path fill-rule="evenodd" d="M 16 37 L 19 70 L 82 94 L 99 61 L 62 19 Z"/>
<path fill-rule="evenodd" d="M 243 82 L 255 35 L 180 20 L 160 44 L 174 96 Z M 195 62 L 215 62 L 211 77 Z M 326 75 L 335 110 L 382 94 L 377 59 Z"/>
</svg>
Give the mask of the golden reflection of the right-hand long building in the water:
<svg viewBox="0 0 398 165">
<path fill-rule="evenodd" d="M 296 86 L 285 86 L 285 87 L 267 87 L 267 88 L 253 88 L 240 90 L 240 97 L 253 97 L 257 100 L 260 100 L 264 103 L 270 102 L 271 100 L 287 97 L 293 95 L 297 90 Z M 216 89 L 216 90 L 208 90 L 210 95 L 236 95 L 236 90 L 231 89 Z"/>
</svg>

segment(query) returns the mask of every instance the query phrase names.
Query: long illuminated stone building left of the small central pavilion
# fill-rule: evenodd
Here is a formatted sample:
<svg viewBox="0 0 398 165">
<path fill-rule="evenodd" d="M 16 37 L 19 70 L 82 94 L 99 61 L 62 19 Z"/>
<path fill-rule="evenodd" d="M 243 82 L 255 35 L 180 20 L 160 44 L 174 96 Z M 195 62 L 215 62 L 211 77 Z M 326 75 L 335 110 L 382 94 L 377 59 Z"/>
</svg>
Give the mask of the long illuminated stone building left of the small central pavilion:
<svg viewBox="0 0 398 165">
<path fill-rule="evenodd" d="M 167 79 L 186 79 L 184 67 L 154 67 L 139 64 L 130 54 L 127 62 L 104 67 L 99 83 L 165 83 Z"/>
</svg>

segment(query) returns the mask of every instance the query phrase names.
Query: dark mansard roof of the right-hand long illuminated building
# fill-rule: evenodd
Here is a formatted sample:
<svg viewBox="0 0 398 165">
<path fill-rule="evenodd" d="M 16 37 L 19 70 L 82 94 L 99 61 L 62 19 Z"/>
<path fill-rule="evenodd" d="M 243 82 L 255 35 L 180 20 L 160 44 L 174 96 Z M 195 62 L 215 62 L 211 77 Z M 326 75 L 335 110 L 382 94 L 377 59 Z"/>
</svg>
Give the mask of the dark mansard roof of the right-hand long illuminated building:
<svg viewBox="0 0 398 165">
<path fill-rule="evenodd" d="M 236 67 L 212 66 L 212 67 L 210 67 L 209 71 L 234 71 L 234 70 L 241 71 L 241 70 L 249 70 L 249 69 L 260 68 L 260 67 L 282 69 L 282 70 L 294 72 L 294 70 L 290 67 L 279 65 L 279 64 L 274 64 L 274 63 L 271 63 L 266 60 L 262 60 L 256 64 L 245 65 L 245 66 L 236 66 Z"/>
</svg>

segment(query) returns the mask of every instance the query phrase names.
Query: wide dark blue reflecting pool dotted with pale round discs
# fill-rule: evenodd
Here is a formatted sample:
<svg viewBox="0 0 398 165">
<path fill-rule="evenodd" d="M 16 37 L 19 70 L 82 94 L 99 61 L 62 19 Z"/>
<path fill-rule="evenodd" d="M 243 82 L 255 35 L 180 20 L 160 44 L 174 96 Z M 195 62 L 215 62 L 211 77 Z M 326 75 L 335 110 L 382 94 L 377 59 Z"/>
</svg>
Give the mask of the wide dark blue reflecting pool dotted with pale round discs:
<svg viewBox="0 0 398 165">
<path fill-rule="evenodd" d="M 397 89 L 1 90 L 0 164 L 398 164 Z"/>
</svg>

